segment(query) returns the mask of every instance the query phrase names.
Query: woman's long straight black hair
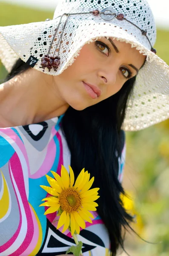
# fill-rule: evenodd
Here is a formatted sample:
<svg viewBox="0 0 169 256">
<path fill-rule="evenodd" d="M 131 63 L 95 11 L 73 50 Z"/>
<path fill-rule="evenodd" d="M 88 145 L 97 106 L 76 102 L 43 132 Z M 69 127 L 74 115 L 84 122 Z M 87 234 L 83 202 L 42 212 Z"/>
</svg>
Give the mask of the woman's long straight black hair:
<svg viewBox="0 0 169 256">
<path fill-rule="evenodd" d="M 5 81 L 29 68 L 18 59 Z M 124 143 L 121 127 L 134 82 L 135 77 L 126 81 L 115 95 L 83 111 L 69 107 L 62 120 L 75 177 L 85 167 L 91 177 L 95 176 L 94 187 L 100 188 L 97 212 L 109 232 L 112 256 L 119 246 L 124 249 L 123 231 L 132 229 L 129 223 L 133 217 L 120 200 L 124 190 L 118 180 L 118 159 Z"/>
</svg>

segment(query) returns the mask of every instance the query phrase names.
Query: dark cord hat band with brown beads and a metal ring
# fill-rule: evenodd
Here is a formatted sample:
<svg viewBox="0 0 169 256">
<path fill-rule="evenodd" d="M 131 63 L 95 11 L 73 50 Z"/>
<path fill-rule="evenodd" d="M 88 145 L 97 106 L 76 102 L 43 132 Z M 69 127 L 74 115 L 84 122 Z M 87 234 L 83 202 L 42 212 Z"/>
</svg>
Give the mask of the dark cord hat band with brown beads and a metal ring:
<svg viewBox="0 0 169 256">
<path fill-rule="evenodd" d="M 62 41 L 62 37 L 63 37 L 63 32 L 64 32 L 64 29 L 65 29 L 66 23 L 67 23 L 67 21 L 68 21 L 70 15 L 80 15 L 80 14 L 92 14 L 92 15 L 94 15 L 94 16 L 99 16 L 99 15 L 100 15 L 100 17 L 101 17 L 103 20 L 106 20 L 106 21 L 108 21 L 108 20 L 113 20 L 114 18 L 116 18 L 117 20 L 126 20 L 127 22 L 129 22 L 129 23 L 131 23 L 133 26 L 135 26 L 137 29 L 140 29 L 137 25 L 135 25 L 134 23 L 132 23 L 130 20 L 127 20 L 127 19 L 126 19 L 126 15 L 124 15 L 123 13 L 116 13 L 115 10 L 112 9 L 111 7 L 104 8 L 104 9 L 101 10 L 101 12 L 96 9 L 96 10 L 93 10 L 93 11 L 90 11 L 90 12 L 64 13 L 62 16 L 58 16 L 58 17 L 60 17 L 60 21 L 59 21 L 59 24 L 58 24 L 58 26 L 57 26 L 57 29 L 56 29 L 56 31 L 55 31 L 55 33 L 54 33 L 54 37 L 53 37 L 52 42 L 51 42 L 51 45 L 50 45 L 50 47 L 49 47 L 49 51 L 48 51 L 47 55 L 45 55 L 45 56 L 42 57 L 42 59 L 41 59 L 41 67 L 40 67 L 40 68 L 43 68 L 43 72 L 44 72 L 45 68 L 48 68 L 49 72 L 50 72 L 50 70 L 51 70 L 52 68 L 54 68 L 54 71 L 57 71 L 58 67 L 60 66 L 60 57 L 59 57 L 60 46 L 59 46 L 59 51 L 58 51 L 58 53 L 57 53 L 57 57 L 54 57 L 54 54 L 55 54 L 55 52 L 56 52 L 56 49 L 57 49 L 57 47 L 58 47 L 58 44 L 60 43 L 60 45 L 61 45 L 61 41 Z M 58 41 L 58 43 L 57 43 L 57 46 L 56 46 L 55 50 L 54 50 L 53 56 L 52 56 L 52 57 L 49 57 L 50 51 L 51 51 L 51 49 L 52 49 L 52 44 L 53 44 L 54 38 L 55 38 L 55 36 L 56 36 L 56 34 L 57 34 L 57 31 L 58 31 L 58 29 L 59 29 L 60 23 L 61 23 L 62 18 L 63 18 L 64 15 L 66 15 L 67 18 L 66 18 L 65 24 L 64 24 L 64 26 L 63 26 L 63 32 L 62 32 L 62 34 L 61 34 L 61 36 L 60 36 L 60 39 L 59 39 L 59 41 Z M 57 17 L 57 18 L 58 18 L 58 17 Z M 50 19 L 46 19 L 46 21 L 48 21 L 48 20 L 50 20 Z M 150 40 L 149 40 L 149 38 L 148 38 L 148 36 L 147 36 L 147 31 L 144 30 L 144 29 L 140 29 L 140 31 L 141 31 L 142 35 L 146 36 L 147 40 L 149 41 L 149 44 L 150 44 L 150 46 L 151 46 L 151 51 L 156 54 L 157 51 L 156 51 L 155 48 L 152 47 L 152 44 L 151 44 L 151 42 L 150 42 Z"/>
</svg>

